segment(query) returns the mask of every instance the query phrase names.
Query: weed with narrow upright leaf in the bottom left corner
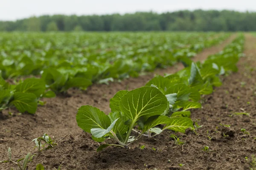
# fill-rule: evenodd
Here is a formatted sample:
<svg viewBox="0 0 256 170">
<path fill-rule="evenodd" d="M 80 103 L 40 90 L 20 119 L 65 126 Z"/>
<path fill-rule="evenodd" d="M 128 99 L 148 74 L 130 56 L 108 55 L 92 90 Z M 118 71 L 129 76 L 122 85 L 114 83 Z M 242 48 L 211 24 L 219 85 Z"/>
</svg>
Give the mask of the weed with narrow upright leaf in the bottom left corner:
<svg viewBox="0 0 256 170">
<path fill-rule="evenodd" d="M 12 160 L 12 150 L 9 147 L 8 148 L 8 158 L 9 158 L 9 160 L 0 161 L 0 163 L 11 162 L 13 164 L 16 164 L 19 167 L 20 170 L 26 170 L 27 164 L 29 163 L 29 161 L 32 161 L 33 156 L 35 156 L 35 154 L 31 155 L 30 153 L 28 153 L 25 158 L 21 158 L 21 159 L 18 159 L 17 161 L 13 161 Z M 23 160 L 23 164 L 21 165 L 19 162 L 22 161 L 22 160 Z"/>
</svg>

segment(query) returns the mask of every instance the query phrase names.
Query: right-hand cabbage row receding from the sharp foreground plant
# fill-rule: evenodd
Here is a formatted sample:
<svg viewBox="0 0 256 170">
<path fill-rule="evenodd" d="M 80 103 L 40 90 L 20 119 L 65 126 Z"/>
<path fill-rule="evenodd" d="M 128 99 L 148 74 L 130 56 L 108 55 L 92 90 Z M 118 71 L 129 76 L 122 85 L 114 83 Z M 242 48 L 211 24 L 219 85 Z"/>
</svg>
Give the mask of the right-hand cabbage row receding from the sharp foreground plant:
<svg viewBox="0 0 256 170">
<path fill-rule="evenodd" d="M 108 146 L 128 147 L 141 136 L 151 138 L 163 130 L 195 130 L 189 109 L 201 108 L 201 95 L 211 94 L 213 87 L 220 86 L 221 75 L 237 71 L 243 44 L 244 37 L 239 35 L 203 63 L 183 58 L 185 68 L 181 71 L 154 77 L 141 88 L 117 92 L 110 99 L 108 115 L 93 106 L 81 106 L 76 114 L 78 126 L 91 133 L 96 142 L 108 138 L 117 142 L 102 144 L 97 151 Z"/>
</svg>

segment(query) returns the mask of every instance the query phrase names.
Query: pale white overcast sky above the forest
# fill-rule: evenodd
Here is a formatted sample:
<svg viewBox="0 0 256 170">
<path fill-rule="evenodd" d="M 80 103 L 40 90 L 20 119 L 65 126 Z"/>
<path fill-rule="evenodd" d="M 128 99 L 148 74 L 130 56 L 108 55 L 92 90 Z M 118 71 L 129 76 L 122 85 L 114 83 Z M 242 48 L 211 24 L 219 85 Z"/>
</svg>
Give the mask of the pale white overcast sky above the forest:
<svg viewBox="0 0 256 170">
<path fill-rule="evenodd" d="M 0 0 L 0 20 L 43 14 L 113 14 L 182 9 L 256 11 L 256 0 Z"/>
</svg>

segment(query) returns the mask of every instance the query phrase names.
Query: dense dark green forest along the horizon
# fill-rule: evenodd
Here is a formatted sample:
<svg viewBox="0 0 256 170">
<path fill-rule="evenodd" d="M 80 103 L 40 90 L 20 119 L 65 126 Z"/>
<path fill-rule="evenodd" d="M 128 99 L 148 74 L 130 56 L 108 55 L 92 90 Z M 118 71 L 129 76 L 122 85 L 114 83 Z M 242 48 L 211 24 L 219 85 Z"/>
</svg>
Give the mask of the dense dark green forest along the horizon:
<svg viewBox="0 0 256 170">
<path fill-rule="evenodd" d="M 0 31 L 256 31 L 256 12 L 195 10 L 158 14 L 44 15 L 0 21 Z"/>
</svg>

